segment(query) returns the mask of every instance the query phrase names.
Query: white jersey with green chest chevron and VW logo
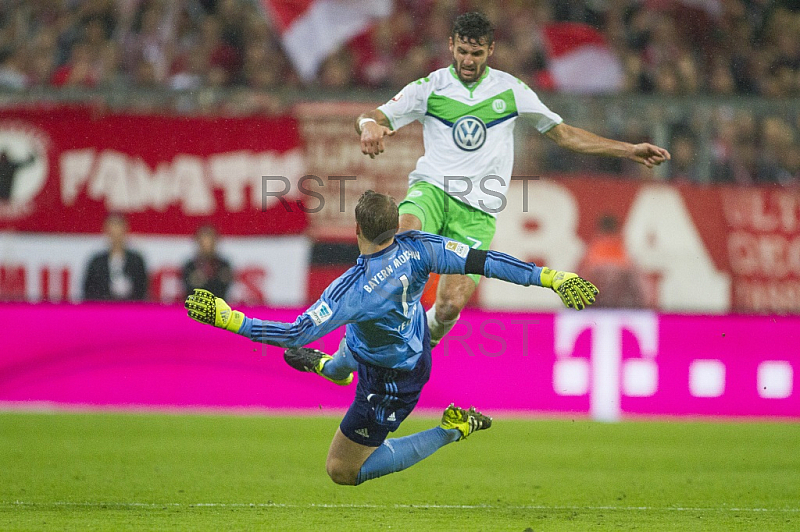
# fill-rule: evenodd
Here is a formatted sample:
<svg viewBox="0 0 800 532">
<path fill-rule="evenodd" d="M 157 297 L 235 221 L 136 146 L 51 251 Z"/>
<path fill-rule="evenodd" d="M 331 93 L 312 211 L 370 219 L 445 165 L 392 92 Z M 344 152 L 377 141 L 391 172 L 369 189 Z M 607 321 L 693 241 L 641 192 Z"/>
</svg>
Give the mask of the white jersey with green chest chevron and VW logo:
<svg viewBox="0 0 800 532">
<path fill-rule="evenodd" d="M 452 65 L 440 68 L 378 109 L 392 129 L 422 123 L 425 154 L 409 174 L 409 186 L 425 181 L 492 216 L 505 206 L 517 116 L 533 115 L 540 133 L 563 121 L 525 83 L 489 67 L 471 86 Z"/>
</svg>

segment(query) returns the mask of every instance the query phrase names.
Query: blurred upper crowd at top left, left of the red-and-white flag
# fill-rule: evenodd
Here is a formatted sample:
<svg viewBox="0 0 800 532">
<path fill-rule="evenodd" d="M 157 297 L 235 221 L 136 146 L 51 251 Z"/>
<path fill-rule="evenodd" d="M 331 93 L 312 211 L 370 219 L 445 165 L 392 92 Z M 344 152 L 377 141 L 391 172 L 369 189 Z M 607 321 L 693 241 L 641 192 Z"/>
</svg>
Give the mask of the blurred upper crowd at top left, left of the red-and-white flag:
<svg viewBox="0 0 800 532">
<path fill-rule="evenodd" d="M 249 0 L 9 0 L 0 25 L 7 87 L 269 88 L 288 69 Z"/>
</svg>

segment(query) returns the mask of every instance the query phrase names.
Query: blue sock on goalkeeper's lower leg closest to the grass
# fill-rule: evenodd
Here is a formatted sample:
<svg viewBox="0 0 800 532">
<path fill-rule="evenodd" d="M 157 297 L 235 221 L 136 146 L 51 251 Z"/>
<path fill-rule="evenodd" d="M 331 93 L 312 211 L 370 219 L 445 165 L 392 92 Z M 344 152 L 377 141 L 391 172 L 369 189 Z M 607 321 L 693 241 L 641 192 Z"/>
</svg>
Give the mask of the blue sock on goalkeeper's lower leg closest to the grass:
<svg viewBox="0 0 800 532">
<path fill-rule="evenodd" d="M 460 437 L 458 429 L 434 427 L 411 436 L 386 440 L 361 466 L 356 484 L 411 467 Z"/>
</svg>

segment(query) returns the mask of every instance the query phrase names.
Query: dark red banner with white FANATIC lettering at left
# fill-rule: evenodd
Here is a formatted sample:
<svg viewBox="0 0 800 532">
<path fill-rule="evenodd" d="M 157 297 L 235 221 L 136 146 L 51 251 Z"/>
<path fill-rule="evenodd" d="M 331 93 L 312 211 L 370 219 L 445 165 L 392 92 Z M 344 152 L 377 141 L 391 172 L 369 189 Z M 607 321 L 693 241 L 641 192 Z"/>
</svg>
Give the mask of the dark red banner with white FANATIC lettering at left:
<svg viewBox="0 0 800 532">
<path fill-rule="evenodd" d="M 141 233 L 212 222 L 225 234 L 294 234 L 307 226 L 293 201 L 303 174 L 292 116 L 0 111 L 0 230 L 99 232 L 116 211 Z"/>
</svg>

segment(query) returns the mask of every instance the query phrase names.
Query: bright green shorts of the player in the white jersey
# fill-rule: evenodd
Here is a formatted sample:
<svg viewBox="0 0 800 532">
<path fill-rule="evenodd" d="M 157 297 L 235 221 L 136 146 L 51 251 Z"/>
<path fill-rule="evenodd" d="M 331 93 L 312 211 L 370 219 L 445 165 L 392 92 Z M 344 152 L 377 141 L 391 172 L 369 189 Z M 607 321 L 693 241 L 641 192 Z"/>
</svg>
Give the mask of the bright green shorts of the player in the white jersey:
<svg viewBox="0 0 800 532">
<path fill-rule="evenodd" d="M 475 249 L 489 249 L 494 238 L 494 216 L 458 201 L 437 186 L 418 181 L 400 202 L 400 214 L 422 222 L 422 230 L 452 238 Z M 478 284 L 481 276 L 470 274 Z"/>
</svg>

